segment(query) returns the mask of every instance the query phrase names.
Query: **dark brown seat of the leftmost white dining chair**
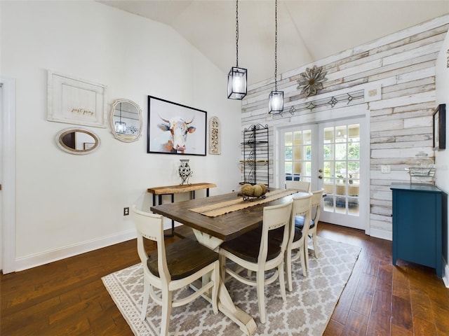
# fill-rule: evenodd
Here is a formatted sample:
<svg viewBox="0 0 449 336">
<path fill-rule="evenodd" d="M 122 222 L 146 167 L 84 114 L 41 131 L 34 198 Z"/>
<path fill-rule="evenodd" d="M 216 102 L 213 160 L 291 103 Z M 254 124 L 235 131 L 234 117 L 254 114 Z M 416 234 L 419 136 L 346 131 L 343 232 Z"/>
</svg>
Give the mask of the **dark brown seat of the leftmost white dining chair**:
<svg viewBox="0 0 449 336">
<path fill-rule="evenodd" d="M 218 253 L 192 239 L 182 239 L 166 245 L 166 258 L 171 279 L 185 278 L 218 260 Z M 157 250 L 149 254 L 149 272 L 159 276 Z"/>
</svg>

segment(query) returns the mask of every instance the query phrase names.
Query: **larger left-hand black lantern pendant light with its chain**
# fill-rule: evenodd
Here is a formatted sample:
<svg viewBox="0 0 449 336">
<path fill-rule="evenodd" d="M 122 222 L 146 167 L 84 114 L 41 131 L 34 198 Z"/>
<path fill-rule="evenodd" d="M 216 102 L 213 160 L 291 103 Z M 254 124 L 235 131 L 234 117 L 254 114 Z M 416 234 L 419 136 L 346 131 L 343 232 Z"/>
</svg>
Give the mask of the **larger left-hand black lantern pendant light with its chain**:
<svg viewBox="0 0 449 336">
<path fill-rule="evenodd" d="M 236 66 L 227 75 L 227 97 L 243 99 L 246 96 L 246 69 L 239 68 L 239 0 L 236 0 Z"/>
</svg>

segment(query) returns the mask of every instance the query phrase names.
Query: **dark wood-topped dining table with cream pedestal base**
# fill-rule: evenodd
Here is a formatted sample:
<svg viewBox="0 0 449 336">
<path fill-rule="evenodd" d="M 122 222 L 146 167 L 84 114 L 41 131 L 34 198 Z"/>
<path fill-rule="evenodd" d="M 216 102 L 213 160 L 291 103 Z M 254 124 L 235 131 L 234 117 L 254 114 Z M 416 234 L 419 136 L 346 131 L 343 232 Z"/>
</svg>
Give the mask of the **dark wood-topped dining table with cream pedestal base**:
<svg viewBox="0 0 449 336">
<path fill-rule="evenodd" d="M 264 203 L 261 204 L 257 204 L 260 200 L 243 201 L 242 197 L 239 196 L 239 193 L 229 193 L 196 200 L 188 200 L 185 202 L 161 204 L 156 207 L 151 207 L 150 209 L 156 214 L 161 214 L 189 226 L 193 229 L 196 239 L 198 239 L 201 244 L 217 251 L 217 248 L 223 241 L 239 237 L 240 235 L 243 235 L 243 233 L 262 225 L 264 207 L 284 204 L 291 200 L 293 195 L 297 193 L 295 190 L 290 190 L 290 195 L 286 195 L 286 193 L 288 193 L 286 190 L 283 190 L 284 193 L 281 193 L 278 190 L 276 193 L 279 193 L 279 198 L 271 200 L 272 196 L 270 193 L 273 193 L 274 190 L 276 189 L 270 189 L 270 192 L 267 193 L 267 200 L 264 200 Z M 226 204 L 227 202 L 242 202 L 241 204 L 245 208 L 218 216 L 206 216 L 196 211 L 209 206 L 214 207 L 215 204 Z M 244 204 L 246 202 L 255 202 L 255 205 Z M 246 207 L 248 205 L 251 206 Z M 192 209 L 195 211 L 192 211 Z M 253 335 L 255 333 L 257 327 L 254 318 L 246 313 L 246 311 L 243 311 L 234 305 L 221 277 L 218 300 L 220 311 L 237 323 L 239 328 L 246 335 Z"/>
</svg>

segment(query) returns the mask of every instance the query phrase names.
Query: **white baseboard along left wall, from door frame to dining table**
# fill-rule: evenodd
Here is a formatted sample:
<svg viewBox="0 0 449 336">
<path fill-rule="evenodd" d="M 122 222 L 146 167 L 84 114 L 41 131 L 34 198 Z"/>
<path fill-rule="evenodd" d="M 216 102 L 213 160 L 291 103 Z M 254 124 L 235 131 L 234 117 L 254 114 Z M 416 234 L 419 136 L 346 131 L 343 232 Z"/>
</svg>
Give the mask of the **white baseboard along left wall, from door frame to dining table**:
<svg viewBox="0 0 449 336">
<path fill-rule="evenodd" d="M 83 241 L 79 244 L 73 244 L 69 246 L 64 246 L 61 248 L 56 248 L 51 251 L 45 251 L 42 253 L 36 253 L 32 255 L 27 255 L 25 257 L 15 259 L 15 272 L 23 271 L 32 267 L 48 264 L 48 262 L 53 262 L 81 253 L 90 252 L 98 248 L 103 248 L 109 245 L 118 244 L 122 241 L 127 241 L 134 239 L 136 237 L 135 229 L 130 229 L 128 231 L 120 232 L 116 235 L 110 235 L 107 237 L 100 237 L 98 239 L 92 239 L 89 241 Z"/>
</svg>

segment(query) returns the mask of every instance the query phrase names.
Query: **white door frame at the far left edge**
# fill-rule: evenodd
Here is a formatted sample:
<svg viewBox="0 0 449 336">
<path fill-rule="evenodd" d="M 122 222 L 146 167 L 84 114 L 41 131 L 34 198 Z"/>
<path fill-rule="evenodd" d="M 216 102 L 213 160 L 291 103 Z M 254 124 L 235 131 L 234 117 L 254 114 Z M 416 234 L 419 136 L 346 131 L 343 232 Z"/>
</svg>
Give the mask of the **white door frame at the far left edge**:
<svg viewBox="0 0 449 336">
<path fill-rule="evenodd" d="M 15 80 L 1 76 L 1 268 L 15 272 Z M 7 158 L 7 160 L 6 160 Z"/>
</svg>

